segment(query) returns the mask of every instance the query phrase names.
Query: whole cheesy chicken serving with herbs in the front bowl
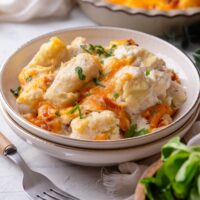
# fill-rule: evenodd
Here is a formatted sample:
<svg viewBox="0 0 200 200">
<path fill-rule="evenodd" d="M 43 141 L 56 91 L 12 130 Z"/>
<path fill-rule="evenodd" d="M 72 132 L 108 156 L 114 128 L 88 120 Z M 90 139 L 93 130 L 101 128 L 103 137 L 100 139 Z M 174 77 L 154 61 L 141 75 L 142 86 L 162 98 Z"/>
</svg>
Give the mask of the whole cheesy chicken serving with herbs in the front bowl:
<svg viewBox="0 0 200 200">
<path fill-rule="evenodd" d="M 178 75 L 132 40 L 43 44 L 11 89 L 20 113 L 76 139 L 116 140 L 169 125 L 186 100 Z"/>
</svg>

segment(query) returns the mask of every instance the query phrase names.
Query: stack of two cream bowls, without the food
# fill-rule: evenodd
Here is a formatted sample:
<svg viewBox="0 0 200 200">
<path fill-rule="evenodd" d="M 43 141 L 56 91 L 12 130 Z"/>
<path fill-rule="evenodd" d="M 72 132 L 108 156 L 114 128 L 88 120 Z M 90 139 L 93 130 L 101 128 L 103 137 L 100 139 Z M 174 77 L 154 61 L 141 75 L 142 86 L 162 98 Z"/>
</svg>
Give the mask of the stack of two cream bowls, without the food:
<svg viewBox="0 0 200 200">
<path fill-rule="evenodd" d="M 40 45 L 52 36 L 67 43 L 83 36 L 90 43 L 105 44 L 113 39 L 133 38 L 140 46 L 162 57 L 181 78 L 187 92 L 187 101 L 164 129 L 145 136 L 110 140 L 88 141 L 72 139 L 45 131 L 26 121 L 19 113 L 10 88 L 18 86 L 18 74 L 26 66 Z M 167 42 L 141 32 L 112 28 L 85 27 L 66 29 L 38 37 L 19 48 L 8 58 L 1 70 L 1 111 L 14 132 L 29 144 L 57 158 L 81 165 L 105 166 L 149 157 L 160 151 L 170 138 L 183 136 L 195 122 L 199 113 L 199 73 L 192 61 Z"/>
</svg>

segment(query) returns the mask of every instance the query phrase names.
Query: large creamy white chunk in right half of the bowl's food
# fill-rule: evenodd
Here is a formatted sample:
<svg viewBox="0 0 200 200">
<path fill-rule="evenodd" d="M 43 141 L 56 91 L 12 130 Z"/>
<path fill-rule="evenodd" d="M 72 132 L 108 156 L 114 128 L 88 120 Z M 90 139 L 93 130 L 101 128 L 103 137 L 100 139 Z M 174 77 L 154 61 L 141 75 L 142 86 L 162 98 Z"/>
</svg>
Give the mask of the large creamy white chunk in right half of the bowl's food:
<svg viewBox="0 0 200 200">
<path fill-rule="evenodd" d="M 126 66 L 116 76 L 117 102 L 125 106 L 130 115 L 138 114 L 158 101 L 142 69 Z"/>
</svg>

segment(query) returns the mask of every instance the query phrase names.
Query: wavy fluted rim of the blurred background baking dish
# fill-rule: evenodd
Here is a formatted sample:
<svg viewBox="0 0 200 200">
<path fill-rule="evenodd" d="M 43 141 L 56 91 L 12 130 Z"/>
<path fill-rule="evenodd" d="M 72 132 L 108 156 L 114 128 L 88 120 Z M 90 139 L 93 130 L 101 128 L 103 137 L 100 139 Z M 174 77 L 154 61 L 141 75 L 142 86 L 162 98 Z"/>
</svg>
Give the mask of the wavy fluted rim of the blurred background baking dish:
<svg viewBox="0 0 200 200">
<path fill-rule="evenodd" d="M 200 8 L 187 8 L 184 10 L 174 9 L 170 11 L 163 11 L 157 9 L 143 9 L 143 8 L 130 8 L 123 5 L 117 5 L 108 3 L 102 0 L 78 0 L 79 3 L 86 3 L 96 8 L 104 8 L 111 12 L 121 12 L 130 16 L 143 15 L 145 17 L 164 17 L 164 18 L 176 18 L 176 17 L 191 17 L 200 15 Z"/>
</svg>

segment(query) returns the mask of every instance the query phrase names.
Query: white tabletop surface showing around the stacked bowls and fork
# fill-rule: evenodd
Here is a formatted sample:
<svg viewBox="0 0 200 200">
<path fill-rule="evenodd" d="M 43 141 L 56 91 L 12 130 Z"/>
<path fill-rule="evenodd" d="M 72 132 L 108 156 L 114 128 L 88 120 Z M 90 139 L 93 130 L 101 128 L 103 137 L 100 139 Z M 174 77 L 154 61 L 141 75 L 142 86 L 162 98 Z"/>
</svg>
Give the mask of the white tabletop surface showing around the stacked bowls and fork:
<svg viewBox="0 0 200 200">
<path fill-rule="evenodd" d="M 78 8 L 68 19 L 37 20 L 24 24 L 0 24 L 0 63 L 24 42 L 47 32 L 66 27 L 95 25 Z M 14 67 L 14 66 L 13 66 Z M 71 192 L 81 200 L 109 200 L 102 187 L 100 168 L 72 165 L 50 157 L 19 139 L 0 114 L 0 131 L 17 146 L 28 165 L 48 176 L 60 188 Z M 28 200 L 22 188 L 21 171 L 0 156 L 0 200 Z"/>
</svg>

